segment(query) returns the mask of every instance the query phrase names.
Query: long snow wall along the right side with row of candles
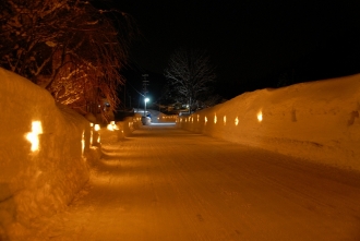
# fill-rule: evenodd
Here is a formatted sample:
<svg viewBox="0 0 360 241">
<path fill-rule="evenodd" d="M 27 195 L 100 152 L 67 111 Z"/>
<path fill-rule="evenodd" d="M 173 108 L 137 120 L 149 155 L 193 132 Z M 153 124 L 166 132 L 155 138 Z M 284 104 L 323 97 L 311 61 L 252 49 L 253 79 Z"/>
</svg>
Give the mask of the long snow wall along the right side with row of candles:
<svg viewBox="0 0 360 241">
<path fill-rule="evenodd" d="M 179 117 L 182 129 L 360 171 L 360 74 L 244 93 Z"/>
</svg>

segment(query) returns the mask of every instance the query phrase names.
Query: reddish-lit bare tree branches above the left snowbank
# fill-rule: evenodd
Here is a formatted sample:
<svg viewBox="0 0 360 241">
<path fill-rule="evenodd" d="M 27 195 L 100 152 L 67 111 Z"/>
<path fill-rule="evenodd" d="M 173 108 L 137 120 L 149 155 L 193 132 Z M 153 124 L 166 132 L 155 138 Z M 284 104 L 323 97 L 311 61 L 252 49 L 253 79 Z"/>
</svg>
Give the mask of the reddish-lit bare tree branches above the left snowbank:
<svg viewBox="0 0 360 241">
<path fill-rule="evenodd" d="M 80 112 L 96 112 L 104 99 L 117 107 L 120 70 L 137 34 L 130 15 L 81 0 L 2 0 L 0 9 L 1 67 Z"/>
</svg>

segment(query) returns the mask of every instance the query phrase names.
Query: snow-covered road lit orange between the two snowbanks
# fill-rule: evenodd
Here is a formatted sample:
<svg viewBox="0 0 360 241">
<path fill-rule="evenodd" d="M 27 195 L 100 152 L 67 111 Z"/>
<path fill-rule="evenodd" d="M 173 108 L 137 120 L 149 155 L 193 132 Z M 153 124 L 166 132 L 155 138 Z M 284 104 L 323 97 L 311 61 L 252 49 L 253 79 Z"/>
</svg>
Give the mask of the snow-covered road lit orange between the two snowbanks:
<svg viewBox="0 0 360 241">
<path fill-rule="evenodd" d="M 356 173 L 145 126 L 115 144 L 49 240 L 360 240 Z"/>
</svg>

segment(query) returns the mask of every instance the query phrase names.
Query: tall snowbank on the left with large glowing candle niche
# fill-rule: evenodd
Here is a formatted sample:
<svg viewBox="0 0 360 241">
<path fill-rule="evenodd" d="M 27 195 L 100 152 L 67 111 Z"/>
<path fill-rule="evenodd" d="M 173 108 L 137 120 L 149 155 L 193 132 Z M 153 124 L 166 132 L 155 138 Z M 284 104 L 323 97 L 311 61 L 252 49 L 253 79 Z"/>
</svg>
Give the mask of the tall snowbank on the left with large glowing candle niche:
<svg viewBox="0 0 360 241">
<path fill-rule="evenodd" d="M 27 240 L 88 180 L 91 125 L 28 80 L 0 80 L 0 240 Z"/>
</svg>

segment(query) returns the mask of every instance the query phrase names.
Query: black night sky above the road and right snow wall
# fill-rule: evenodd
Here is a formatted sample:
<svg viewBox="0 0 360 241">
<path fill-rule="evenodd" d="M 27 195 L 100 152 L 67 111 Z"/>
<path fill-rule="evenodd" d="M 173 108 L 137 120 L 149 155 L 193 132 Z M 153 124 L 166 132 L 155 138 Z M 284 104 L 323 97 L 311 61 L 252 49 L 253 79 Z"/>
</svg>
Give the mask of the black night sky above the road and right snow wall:
<svg viewBox="0 0 360 241">
<path fill-rule="evenodd" d="M 122 0 L 116 5 L 137 22 L 142 39 L 131 60 L 157 91 L 179 47 L 209 51 L 225 98 L 276 87 L 284 73 L 296 83 L 360 72 L 358 0 Z M 128 81 L 136 85 L 141 74 L 128 74 Z"/>
</svg>

